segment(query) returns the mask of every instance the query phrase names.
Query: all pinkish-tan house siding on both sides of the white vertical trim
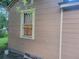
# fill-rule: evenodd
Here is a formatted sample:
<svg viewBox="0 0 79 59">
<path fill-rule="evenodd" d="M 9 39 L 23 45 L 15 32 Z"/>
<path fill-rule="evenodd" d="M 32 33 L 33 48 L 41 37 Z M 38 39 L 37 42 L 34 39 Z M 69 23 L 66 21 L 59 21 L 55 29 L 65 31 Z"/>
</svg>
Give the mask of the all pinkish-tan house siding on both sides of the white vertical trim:
<svg viewBox="0 0 79 59">
<path fill-rule="evenodd" d="M 20 38 L 20 13 L 16 11 L 16 4 L 9 10 L 9 47 L 42 56 L 44 59 L 58 59 L 60 40 L 59 0 L 34 1 L 36 8 L 35 40 Z M 78 14 L 78 10 L 64 11 L 62 59 L 79 59 Z"/>
</svg>

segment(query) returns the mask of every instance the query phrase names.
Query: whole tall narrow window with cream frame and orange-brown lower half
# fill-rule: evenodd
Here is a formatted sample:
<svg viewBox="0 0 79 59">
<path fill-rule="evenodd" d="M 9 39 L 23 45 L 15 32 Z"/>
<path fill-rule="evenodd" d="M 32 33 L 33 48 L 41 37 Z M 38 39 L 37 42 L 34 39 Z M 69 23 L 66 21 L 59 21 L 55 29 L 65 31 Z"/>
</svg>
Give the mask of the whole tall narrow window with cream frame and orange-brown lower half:
<svg viewBox="0 0 79 59">
<path fill-rule="evenodd" d="M 23 10 L 21 12 L 21 31 L 20 37 L 34 39 L 35 32 L 35 9 Z"/>
</svg>

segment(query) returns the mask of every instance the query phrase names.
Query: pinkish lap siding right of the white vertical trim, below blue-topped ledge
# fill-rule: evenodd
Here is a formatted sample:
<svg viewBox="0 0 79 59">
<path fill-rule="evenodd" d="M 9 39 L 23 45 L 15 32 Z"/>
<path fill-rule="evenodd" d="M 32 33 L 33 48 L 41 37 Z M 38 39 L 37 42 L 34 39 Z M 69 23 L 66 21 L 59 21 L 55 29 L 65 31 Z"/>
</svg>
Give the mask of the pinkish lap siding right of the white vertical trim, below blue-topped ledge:
<svg viewBox="0 0 79 59">
<path fill-rule="evenodd" d="M 62 59 L 79 58 L 79 10 L 64 11 Z"/>
</svg>

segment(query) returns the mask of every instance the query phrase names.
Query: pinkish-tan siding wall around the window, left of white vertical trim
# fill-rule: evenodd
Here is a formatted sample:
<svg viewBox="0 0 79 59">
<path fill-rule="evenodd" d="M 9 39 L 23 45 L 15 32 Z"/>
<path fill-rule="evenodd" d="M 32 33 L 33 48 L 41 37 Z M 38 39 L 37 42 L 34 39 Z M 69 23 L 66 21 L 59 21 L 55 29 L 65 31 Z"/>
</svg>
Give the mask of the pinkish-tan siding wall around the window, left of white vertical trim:
<svg viewBox="0 0 79 59">
<path fill-rule="evenodd" d="M 34 1 L 34 7 L 36 8 L 35 40 L 20 38 L 20 13 L 16 11 L 16 4 L 9 10 L 9 47 L 42 56 L 44 59 L 58 59 L 59 0 Z"/>
</svg>

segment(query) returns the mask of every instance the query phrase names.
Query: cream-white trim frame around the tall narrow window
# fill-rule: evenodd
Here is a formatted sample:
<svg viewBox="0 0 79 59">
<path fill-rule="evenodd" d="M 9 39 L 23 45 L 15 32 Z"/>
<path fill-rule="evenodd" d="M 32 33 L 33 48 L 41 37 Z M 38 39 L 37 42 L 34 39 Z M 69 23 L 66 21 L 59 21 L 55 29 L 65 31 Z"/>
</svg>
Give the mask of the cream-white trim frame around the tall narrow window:
<svg viewBox="0 0 79 59">
<path fill-rule="evenodd" d="M 32 37 L 24 36 L 24 13 L 27 13 L 29 10 L 22 10 L 21 11 L 21 21 L 20 21 L 20 38 L 24 39 L 35 39 L 35 9 L 32 9 Z"/>
</svg>

